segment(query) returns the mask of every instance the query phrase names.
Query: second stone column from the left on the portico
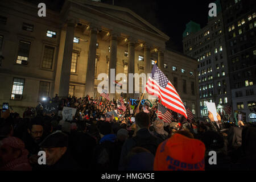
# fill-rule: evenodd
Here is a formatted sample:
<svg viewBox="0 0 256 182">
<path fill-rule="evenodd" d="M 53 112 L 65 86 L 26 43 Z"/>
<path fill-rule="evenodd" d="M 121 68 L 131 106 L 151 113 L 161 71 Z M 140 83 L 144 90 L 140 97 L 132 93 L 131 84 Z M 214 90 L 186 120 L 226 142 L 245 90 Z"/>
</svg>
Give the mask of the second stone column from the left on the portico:
<svg viewBox="0 0 256 182">
<path fill-rule="evenodd" d="M 94 71 L 96 60 L 97 28 L 90 24 L 90 40 L 88 50 L 88 61 L 85 81 L 85 96 L 94 96 Z"/>
</svg>

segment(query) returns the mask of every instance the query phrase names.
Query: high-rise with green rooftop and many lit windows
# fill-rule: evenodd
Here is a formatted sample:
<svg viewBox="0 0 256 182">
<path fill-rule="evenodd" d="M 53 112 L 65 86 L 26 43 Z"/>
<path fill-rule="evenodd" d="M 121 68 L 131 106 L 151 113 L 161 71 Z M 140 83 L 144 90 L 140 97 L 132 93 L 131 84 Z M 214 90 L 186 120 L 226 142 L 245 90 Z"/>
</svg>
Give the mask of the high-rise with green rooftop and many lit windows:
<svg viewBox="0 0 256 182">
<path fill-rule="evenodd" d="M 228 60 L 224 23 L 220 1 L 217 16 L 208 17 L 207 26 L 190 21 L 183 32 L 183 52 L 198 62 L 201 115 L 208 115 L 206 102 L 214 102 L 217 109 L 231 103 Z"/>
</svg>

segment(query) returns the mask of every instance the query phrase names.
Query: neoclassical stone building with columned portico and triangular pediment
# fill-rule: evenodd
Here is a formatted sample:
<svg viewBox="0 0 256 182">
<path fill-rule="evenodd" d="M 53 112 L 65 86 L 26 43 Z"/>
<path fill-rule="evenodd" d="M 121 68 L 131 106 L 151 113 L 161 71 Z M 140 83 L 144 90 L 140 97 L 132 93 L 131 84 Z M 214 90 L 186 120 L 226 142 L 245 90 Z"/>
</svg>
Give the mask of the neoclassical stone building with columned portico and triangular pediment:
<svg viewBox="0 0 256 182">
<path fill-rule="evenodd" d="M 185 84 L 198 86 L 197 61 L 167 51 L 165 43 L 170 38 L 129 9 L 66 0 L 60 11 L 47 9 L 46 17 L 39 17 L 34 4 L 4 0 L 0 10 L 0 103 L 9 102 L 20 113 L 55 94 L 96 97 L 101 82 L 97 77 L 106 73 L 111 78 L 110 69 L 115 69 L 115 75 L 147 74 L 157 60 L 173 81 L 172 56 L 179 57 L 177 64 L 186 69 L 187 76 L 181 71 L 180 81 L 183 76 L 188 80 Z M 129 79 L 124 81 L 129 83 Z M 195 110 L 196 90 L 195 97 L 187 97 Z"/>
</svg>

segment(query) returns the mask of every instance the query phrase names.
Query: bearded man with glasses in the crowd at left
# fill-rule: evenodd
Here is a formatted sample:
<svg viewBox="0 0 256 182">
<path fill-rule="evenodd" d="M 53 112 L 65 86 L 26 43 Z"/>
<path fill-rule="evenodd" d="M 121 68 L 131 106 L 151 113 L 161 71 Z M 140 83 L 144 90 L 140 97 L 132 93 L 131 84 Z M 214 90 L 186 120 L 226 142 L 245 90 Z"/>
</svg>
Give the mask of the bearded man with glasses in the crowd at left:
<svg viewBox="0 0 256 182">
<path fill-rule="evenodd" d="M 43 140 L 44 125 L 42 117 L 31 119 L 27 131 L 23 137 L 25 147 L 29 152 L 30 163 L 38 163 L 38 152 L 40 151 L 39 143 Z"/>
</svg>

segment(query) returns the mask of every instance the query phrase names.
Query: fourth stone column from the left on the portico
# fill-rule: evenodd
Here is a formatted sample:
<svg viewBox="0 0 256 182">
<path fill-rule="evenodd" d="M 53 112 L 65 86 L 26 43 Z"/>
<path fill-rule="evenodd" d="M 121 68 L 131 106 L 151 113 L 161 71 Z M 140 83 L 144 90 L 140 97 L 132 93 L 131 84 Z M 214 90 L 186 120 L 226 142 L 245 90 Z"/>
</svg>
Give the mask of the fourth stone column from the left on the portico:
<svg viewBox="0 0 256 182">
<path fill-rule="evenodd" d="M 135 44 L 135 40 L 133 38 L 129 39 L 129 44 L 128 44 L 128 78 L 127 78 L 127 93 L 128 93 L 128 97 L 130 98 L 134 98 L 134 78 L 130 79 L 129 78 L 129 73 L 133 73 L 134 74 L 134 66 L 135 66 L 135 60 L 134 60 L 134 56 L 135 56 L 135 51 L 134 51 L 134 44 Z M 130 89 L 130 92 L 132 91 L 133 93 L 129 93 L 129 88 L 133 88 Z"/>
</svg>

